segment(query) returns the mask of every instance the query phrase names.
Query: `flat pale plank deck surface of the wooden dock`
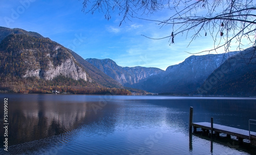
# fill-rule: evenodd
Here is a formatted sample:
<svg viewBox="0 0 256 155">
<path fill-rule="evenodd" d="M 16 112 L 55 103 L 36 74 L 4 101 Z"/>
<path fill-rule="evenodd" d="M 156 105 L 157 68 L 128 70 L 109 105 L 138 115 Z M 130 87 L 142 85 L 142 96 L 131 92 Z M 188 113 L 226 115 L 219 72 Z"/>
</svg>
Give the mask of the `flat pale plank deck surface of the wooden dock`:
<svg viewBox="0 0 256 155">
<path fill-rule="evenodd" d="M 206 130 L 211 129 L 211 123 L 209 123 L 209 122 L 192 123 L 192 125 L 195 126 L 195 127 L 204 128 Z M 227 134 L 227 135 L 238 136 L 238 137 L 241 137 L 241 138 L 244 138 L 244 139 L 249 139 L 249 131 L 242 130 L 240 128 L 214 124 L 214 131 L 218 132 L 218 133 L 224 133 L 224 134 Z M 255 132 L 250 132 L 250 134 L 256 136 Z"/>
</svg>

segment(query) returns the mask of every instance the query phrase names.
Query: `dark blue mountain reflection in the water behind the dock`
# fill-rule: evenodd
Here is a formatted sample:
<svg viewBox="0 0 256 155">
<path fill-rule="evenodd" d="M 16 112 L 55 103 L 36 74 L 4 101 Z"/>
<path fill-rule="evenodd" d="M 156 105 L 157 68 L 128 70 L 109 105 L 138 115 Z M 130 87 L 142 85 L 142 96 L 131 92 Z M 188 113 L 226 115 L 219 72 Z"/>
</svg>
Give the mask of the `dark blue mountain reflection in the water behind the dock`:
<svg viewBox="0 0 256 155">
<path fill-rule="evenodd" d="M 189 107 L 194 107 L 194 122 L 210 122 L 214 117 L 214 123 L 232 126 L 248 130 L 248 120 L 256 119 L 256 100 L 253 98 L 219 98 L 219 99 L 172 99 L 156 102 L 148 100 L 151 104 L 176 108 L 184 113 L 183 119 L 188 119 Z M 256 125 L 253 126 L 256 131 Z"/>
</svg>

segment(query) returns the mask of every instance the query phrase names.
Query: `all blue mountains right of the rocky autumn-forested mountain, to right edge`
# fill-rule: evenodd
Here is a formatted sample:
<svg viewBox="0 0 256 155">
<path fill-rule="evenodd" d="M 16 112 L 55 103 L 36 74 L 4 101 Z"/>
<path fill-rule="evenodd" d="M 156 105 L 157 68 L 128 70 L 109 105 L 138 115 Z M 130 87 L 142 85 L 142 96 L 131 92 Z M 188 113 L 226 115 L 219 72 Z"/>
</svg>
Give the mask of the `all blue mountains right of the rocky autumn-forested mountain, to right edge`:
<svg viewBox="0 0 256 155">
<path fill-rule="evenodd" d="M 256 95 L 255 47 L 244 51 L 225 54 L 190 56 L 184 62 L 158 68 L 121 67 L 110 59 L 86 59 L 98 69 L 111 76 L 123 86 L 153 93 L 172 95 Z M 212 76 L 231 60 L 236 65 L 229 66 L 229 72 L 212 82 Z M 205 88 L 208 82 L 214 85 Z M 207 89 L 207 90 L 206 90 Z"/>
</svg>

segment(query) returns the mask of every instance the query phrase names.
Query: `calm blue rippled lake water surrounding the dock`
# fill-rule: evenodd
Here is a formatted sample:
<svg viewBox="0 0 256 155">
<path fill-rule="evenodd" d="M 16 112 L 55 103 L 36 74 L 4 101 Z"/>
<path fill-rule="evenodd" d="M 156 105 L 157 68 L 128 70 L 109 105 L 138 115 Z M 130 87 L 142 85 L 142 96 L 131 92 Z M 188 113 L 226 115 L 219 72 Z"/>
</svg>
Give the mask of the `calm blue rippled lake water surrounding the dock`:
<svg viewBox="0 0 256 155">
<path fill-rule="evenodd" d="M 8 152 L 0 154 L 255 154 L 227 139 L 189 139 L 194 122 L 248 130 L 256 98 L 0 94 L 8 98 Z M 256 131 L 256 127 L 253 128 Z M 212 147 L 211 147 L 212 146 Z M 211 151 L 212 148 L 212 151 Z"/>
</svg>

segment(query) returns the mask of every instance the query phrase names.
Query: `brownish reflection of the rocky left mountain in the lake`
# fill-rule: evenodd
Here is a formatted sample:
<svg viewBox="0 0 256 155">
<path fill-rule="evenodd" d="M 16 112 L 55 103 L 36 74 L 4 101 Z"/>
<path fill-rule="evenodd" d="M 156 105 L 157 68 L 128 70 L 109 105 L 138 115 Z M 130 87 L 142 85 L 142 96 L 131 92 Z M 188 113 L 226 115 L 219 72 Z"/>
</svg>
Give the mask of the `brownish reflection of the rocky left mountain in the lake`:
<svg viewBox="0 0 256 155">
<path fill-rule="evenodd" d="M 114 111 L 118 105 L 111 107 L 106 105 L 105 111 L 98 110 L 96 115 L 92 105 L 99 105 L 99 101 L 87 101 L 84 98 L 77 100 L 70 97 L 44 94 L 15 94 L 15 97 L 11 95 L 9 97 L 9 146 L 60 135 L 82 124 L 100 122 L 102 118 L 105 118 L 104 131 L 113 132 L 115 120 L 108 120 L 108 118 L 111 118 L 111 114 L 114 115 L 115 112 L 107 113 L 108 117 L 105 117 L 105 111 L 108 109 Z M 0 132 L 4 132 L 3 128 Z"/>
</svg>

